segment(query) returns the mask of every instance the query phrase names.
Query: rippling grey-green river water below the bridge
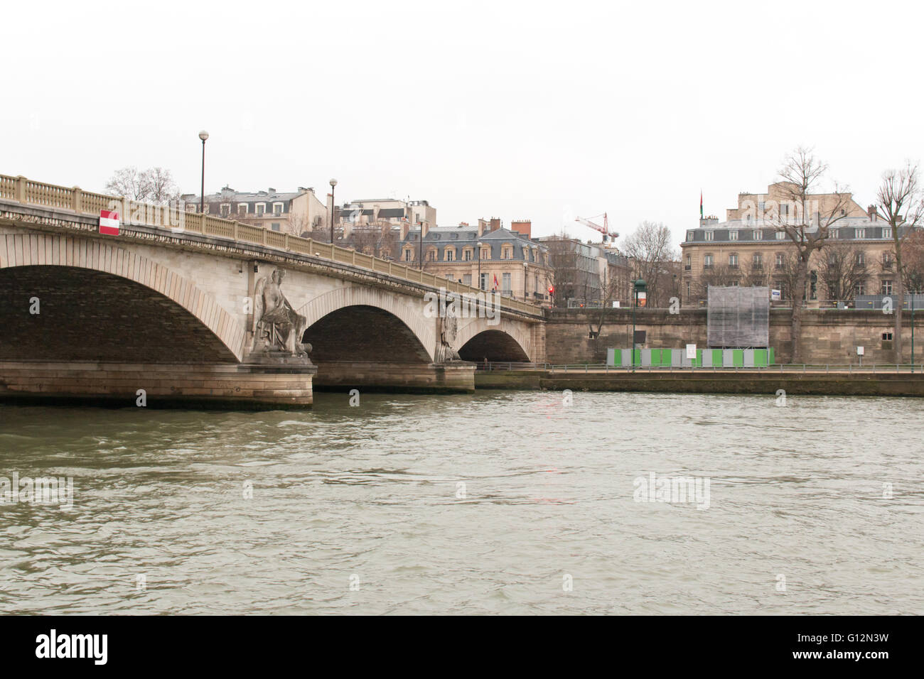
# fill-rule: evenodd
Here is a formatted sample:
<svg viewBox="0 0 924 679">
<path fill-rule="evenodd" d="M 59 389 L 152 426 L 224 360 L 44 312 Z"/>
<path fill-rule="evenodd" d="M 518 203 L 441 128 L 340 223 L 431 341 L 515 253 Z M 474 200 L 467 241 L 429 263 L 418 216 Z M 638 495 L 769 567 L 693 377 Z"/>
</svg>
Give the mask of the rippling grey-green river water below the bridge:
<svg viewBox="0 0 924 679">
<path fill-rule="evenodd" d="M 924 401 L 348 398 L 0 406 L 0 612 L 924 613 Z"/>
</svg>

